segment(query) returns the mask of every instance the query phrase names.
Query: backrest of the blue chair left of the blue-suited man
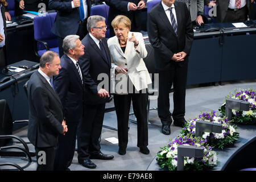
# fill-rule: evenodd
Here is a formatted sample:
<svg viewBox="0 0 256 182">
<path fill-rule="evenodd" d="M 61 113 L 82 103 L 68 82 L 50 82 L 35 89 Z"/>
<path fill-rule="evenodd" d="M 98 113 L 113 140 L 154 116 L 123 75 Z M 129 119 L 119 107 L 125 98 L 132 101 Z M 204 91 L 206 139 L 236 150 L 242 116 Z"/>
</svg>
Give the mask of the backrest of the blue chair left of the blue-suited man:
<svg viewBox="0 0 256 182">
<path fill-rule="evenodd" d="M 49 13 L 46 16 L 35 16 L 34 18 L 34 38 L 46 42 L 49 48 L 58 47 L 59 45 L 57 36 L 51 32 L 56 14 L 56 12 Z M 42 43 L 38 43 L 37 48 L 38 51 L 46 49 Z"/>
</svg>

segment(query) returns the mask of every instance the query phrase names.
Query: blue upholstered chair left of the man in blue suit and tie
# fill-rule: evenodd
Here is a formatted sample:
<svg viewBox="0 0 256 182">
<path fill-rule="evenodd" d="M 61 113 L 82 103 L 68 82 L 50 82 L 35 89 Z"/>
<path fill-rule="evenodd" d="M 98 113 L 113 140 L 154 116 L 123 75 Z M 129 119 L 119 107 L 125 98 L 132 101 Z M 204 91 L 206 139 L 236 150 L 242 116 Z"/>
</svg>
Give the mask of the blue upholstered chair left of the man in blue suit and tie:
<svg viewBox="0 0 256 182">
<path fill-rule="evenodd" d="M 40 57 L 49 50 L 59 53 L 57 36 L 51 32 L 55 17 L 56 13 L 49 13 L 46 16 L 36 16 L 34 18 L 34 49 L 36 56 Z"/>
</svg>

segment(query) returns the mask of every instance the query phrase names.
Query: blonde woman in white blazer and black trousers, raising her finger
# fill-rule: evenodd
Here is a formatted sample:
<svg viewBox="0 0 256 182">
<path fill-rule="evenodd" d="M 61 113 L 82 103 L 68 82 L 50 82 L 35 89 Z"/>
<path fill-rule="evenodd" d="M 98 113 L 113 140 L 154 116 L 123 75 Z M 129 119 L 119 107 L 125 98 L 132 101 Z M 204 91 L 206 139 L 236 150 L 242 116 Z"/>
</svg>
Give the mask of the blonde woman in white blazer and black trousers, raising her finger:
<svg viewBox="0 0 256 182">
<path fill-rule="evenodd" d="M 146 90 L 152 81 L 143 61 L 147 56 L 147 50 L 142 34 L 130 32 L 131 21 L 126 16 L 116 16 L 112 21 L 112 27 L 115 36 L 108 39 L 108 46 L 112 57 L 112 91 L 118 124 L 118 154 L 126 154 L 131 101 L 138 123 L 137 146 L 140 152 L 149 154 Z"/>
</svg>

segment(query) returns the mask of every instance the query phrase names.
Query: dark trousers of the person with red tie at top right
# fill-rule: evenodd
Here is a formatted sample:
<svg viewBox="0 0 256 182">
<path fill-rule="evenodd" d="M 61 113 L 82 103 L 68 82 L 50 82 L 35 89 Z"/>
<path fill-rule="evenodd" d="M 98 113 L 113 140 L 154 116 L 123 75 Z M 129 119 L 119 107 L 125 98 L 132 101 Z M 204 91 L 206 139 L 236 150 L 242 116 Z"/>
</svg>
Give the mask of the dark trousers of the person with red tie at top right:
<svg viewBox="0 0 256 182">
<path fill-rule="evenodd" d="M 247 6 L 244 6 L 237 11 L 228 9 L 228 11 L 226 11 L 226 16 L 223 22 L 244 22 L 247 20 L 247 15 Z"/>
</svg>

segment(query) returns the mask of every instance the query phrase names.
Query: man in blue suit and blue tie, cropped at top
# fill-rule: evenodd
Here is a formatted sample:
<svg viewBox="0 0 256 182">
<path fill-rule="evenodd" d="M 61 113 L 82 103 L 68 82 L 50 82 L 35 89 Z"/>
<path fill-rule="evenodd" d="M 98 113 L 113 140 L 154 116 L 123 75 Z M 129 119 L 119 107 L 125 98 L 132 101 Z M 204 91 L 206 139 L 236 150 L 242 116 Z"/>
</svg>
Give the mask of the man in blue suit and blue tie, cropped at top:
<svg viewBox="0 0 256 182">
<path fill-rule="evenodd" d="M 83 39 L 87 34 L 86 23 L 90 16 L 91 0 L 49 0 L 49 9 L 57 10 L 52 33 L 59 39 L 59 55 L 63 56 L 63 39 L 67 35 L 79 35 Z M 84 6 L 85 5 L 85 6 Z"/>
</svg>

